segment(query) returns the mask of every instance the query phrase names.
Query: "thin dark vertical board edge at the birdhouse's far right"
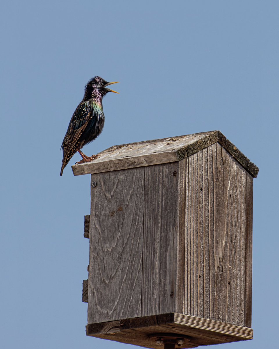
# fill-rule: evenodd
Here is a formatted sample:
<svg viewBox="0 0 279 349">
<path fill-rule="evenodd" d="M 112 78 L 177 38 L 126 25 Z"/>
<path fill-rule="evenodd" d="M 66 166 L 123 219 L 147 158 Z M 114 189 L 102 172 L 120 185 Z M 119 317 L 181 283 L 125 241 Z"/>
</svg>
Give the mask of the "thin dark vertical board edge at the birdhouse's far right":
<svg viewBox="0 0 279 349">
<path fill-rule="evenodd" d="M 253 178 L 246 174 L 245 196 L 245 295 L 244 326 L 251 327 L 252 320 L 252 224 L 253 224 Z"/>
</svg>

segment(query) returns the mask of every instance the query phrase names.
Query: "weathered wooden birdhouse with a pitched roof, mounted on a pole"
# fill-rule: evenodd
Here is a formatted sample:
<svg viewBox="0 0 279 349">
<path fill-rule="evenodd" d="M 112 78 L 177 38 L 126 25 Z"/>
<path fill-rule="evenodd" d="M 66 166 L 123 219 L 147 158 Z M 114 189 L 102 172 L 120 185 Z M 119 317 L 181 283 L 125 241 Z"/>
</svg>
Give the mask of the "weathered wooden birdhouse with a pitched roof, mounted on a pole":
<svg viewBox="0 0 279 349">
<path fill-rule="evenodd" d="M 86 334 L 146 348 L 252 339 L 252 182 L 219 131 L 113 146 L 91 163 Z"/>
</svg>

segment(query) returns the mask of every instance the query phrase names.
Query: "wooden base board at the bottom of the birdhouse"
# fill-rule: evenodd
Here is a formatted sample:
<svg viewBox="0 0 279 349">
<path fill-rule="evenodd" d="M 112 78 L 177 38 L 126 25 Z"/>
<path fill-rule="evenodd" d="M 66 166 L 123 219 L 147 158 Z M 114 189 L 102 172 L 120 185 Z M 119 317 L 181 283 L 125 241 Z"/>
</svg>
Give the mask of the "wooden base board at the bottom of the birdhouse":
<svg viewBox="0 0 279 349">
<path fill-rule="evenodd" d="M 178 338 L 179 336 L 189 338 L 175 348 L 196 348 L 253 338 L 251 328 L 179 313 L 101 322 L 86 326 L 88 336 L 154 349 L 163 348 L 160 343 L 156 343 L 158 340 L 156 337 L 160 334 L 162 336 L 175 334 Z"/>
</svg>

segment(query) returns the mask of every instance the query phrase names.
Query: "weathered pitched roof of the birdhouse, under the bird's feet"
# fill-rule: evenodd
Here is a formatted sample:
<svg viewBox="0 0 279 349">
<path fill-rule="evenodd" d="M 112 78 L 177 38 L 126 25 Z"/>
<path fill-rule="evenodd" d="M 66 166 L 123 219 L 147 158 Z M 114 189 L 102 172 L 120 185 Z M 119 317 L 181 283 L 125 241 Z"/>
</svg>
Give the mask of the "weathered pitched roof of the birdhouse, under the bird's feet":
<svg viewBox="0 0 279 349">
<path fill-rule="evenodd" d="M 219 142 L 254 178 L 258 167 L 237 149 L 220 131 L 210 131 L 151 141 L 120 144 L 101 151 L 92 162 L 72 166 L 75 176 L 123 170 L 134 167 L 180 161 Z"/>
</svg>

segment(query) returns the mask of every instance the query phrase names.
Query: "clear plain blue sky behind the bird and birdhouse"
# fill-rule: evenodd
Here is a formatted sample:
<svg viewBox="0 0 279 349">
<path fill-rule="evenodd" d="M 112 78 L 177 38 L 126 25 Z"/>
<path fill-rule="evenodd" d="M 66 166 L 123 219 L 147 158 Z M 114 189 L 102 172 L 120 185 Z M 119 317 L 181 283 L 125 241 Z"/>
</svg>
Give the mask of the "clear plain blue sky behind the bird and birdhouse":
<svg viewBox="0 0 279 349">
<path fill-rule="evenodd" d="M 254 340 L 278 332 L 278 1 L 9 1 L 0 13 L 0 328 L 9 348 L 129 348 L 85 336 L 90 176 L 60 178 L 60 146 L 94 75 L 101 136 L 84 147 L 219 129 L 254 180 Z M 219 348 L 219 347 L 218 347 Z"/>
</svg>

